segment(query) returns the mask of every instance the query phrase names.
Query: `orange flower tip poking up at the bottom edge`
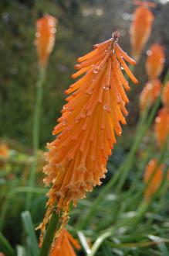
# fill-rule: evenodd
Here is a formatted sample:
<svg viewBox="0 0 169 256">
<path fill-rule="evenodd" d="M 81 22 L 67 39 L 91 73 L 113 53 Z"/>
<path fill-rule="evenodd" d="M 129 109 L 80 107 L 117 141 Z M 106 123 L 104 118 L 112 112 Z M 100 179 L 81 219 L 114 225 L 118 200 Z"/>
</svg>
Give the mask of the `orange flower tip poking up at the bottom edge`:
<svg viewBox="0 0 169 256">
<path fill-rule="evenodd" d="M 59 237 L 56 238 L 54 246 L 51 247 L 49 256 L 76 256 L 75 247 L 77 250 L 80 249 L 80 245 L 67 230 L 62 230 Z"/>
</svg>

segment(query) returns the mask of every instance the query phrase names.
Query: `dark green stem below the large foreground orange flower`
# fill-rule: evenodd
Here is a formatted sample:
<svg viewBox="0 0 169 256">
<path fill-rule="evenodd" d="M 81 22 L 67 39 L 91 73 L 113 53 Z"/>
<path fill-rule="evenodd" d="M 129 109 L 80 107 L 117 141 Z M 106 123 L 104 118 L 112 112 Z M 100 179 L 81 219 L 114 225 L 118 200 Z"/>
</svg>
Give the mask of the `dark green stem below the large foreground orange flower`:
<svg viewBox="0 0 169 256">
<path fill-rule="evenodd" d="M 58 224 L 59 224 L 58 215 L 56 213 L 52 213 L 51 219 L 49 221 L 49 226 L 48 226 L 45 238 L 42 243 L 42 249 L 40 251 L 40 256 L 47 256 L 49 254 L 49 250 L 50 250 L 50 247 L 52 244 L 53 237 L 56 233 Z"/>
</svg>

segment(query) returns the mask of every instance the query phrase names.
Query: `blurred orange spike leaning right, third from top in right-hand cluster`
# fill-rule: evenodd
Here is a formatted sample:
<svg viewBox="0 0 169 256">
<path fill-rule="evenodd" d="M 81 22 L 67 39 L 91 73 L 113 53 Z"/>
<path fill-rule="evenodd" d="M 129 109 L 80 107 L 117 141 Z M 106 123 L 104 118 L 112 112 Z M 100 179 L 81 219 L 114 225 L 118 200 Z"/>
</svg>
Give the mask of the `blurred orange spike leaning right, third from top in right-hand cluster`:
<svg viewBox="0 0 169 256">
<path fill-rule="evenodd" d="M 147 82 L 140 93 L 140 111 L 144 111 L 148 106 L 152 106 L 161 93 L 161 81 L 155 80 Z"/>
</svg>

